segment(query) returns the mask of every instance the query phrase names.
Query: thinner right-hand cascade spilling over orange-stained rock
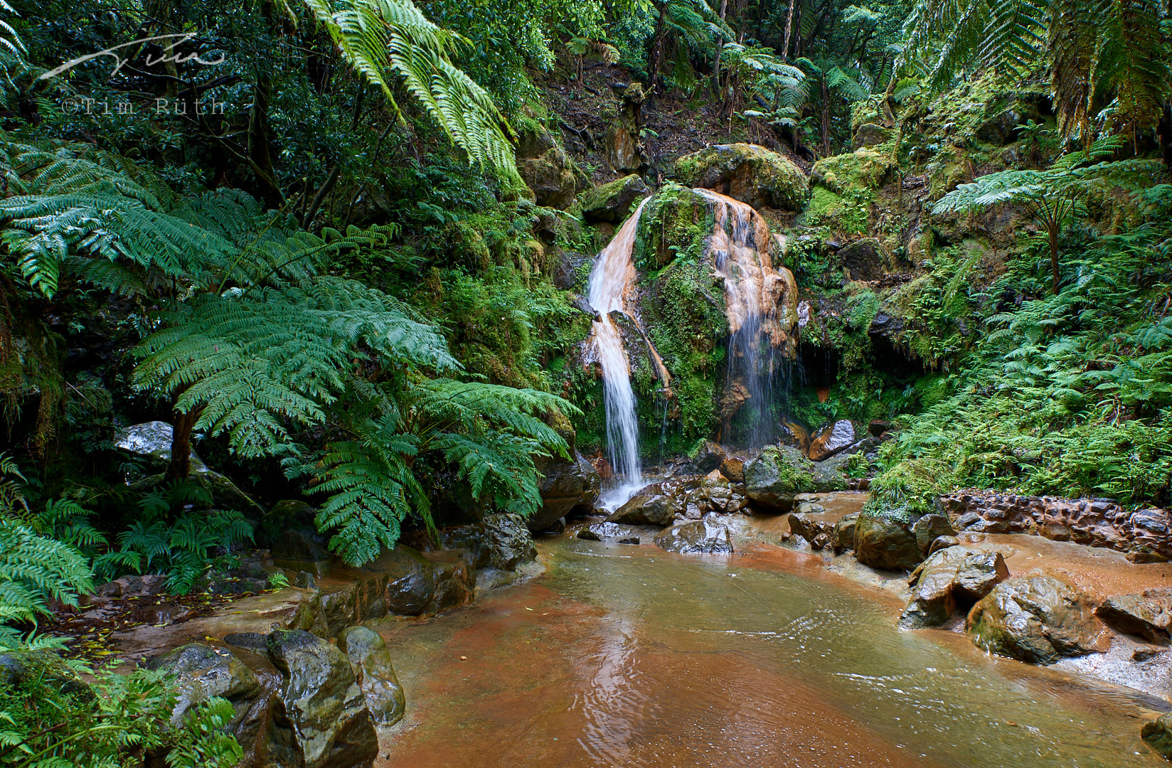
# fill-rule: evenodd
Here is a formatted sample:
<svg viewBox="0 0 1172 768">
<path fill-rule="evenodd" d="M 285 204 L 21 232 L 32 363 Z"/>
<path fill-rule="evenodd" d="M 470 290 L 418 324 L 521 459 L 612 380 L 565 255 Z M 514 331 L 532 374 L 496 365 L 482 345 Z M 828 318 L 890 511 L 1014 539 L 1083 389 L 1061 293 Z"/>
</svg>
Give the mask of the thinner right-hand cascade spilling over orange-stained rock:
<svg viewBox="0 0 1172 768">
<path fill-rule="evenodd" d="M 793 346 L 785 331 L 791 324 L 783 324 L 777 307 L 785 305 L 793 278 L 784 267 L 774 269 L 769 224 L 752 206 L 711 190 L 695 192 L 713 203 L 709 249 L 714 270 L 724 279 L 730 337 L 722 433 L 732 437 L 730 421 L 737 415 L 747 424 L 741 440 L 758 448 L 777 439 L 775 383 L 779 375 L 785 378 Z M 784 240 L 777 244 L 784 247 Z"/>
</svg>

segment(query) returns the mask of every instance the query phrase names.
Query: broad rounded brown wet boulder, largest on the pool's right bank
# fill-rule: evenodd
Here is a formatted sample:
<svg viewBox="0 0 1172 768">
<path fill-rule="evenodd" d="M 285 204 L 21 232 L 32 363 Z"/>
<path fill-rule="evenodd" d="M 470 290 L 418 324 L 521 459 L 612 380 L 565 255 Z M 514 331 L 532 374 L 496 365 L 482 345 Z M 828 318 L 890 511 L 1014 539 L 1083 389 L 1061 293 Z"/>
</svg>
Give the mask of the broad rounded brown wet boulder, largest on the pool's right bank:
<svg viewBox="0 0 1172 768">
<path fill-rule="evenodd" d="M 1041 571 L 994 587 L 973 606 L 966 631 L 977 647 L 1033 664 L 1103 652 L 1109 641 L 1090 598 Z"/>
</svg>

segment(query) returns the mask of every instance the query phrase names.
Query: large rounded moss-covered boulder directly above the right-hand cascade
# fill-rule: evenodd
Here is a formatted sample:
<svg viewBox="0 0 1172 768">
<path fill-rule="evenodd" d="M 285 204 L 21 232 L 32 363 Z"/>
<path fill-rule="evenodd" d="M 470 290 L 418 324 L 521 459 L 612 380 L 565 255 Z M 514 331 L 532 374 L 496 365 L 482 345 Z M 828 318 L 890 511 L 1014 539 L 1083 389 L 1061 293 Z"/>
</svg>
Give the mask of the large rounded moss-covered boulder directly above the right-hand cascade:
<svg viewBox="0 0 1172 768">
<path fill-rule="evenodd" d="M 810 185 L 789 158 L 757 144 L 714 144 L 675 162 L 673 175 L 754 208 L 800 211 Z"/>
</svg>

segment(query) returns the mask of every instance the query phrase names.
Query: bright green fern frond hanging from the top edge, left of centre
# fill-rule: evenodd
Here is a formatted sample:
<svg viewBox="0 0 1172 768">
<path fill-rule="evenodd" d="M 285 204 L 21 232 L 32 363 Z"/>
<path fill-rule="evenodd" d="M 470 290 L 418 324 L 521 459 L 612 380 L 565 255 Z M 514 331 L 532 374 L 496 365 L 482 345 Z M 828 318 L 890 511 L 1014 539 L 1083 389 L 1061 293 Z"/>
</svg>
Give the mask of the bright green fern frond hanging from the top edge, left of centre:
<svg viewBox="0 0 1172 768">
<path fill-rule="evenodd" d="M 382 88 L 396 111 L 395 76 L 470 162 L 519 183 L 512 129 L 489 93 L 449 59 L 466 45 L 462 36 L 434 25 L 411 0 L 343 0 L 338 9 L 328 0 L 306 5 L 347 61 Z"/>
</svg>

